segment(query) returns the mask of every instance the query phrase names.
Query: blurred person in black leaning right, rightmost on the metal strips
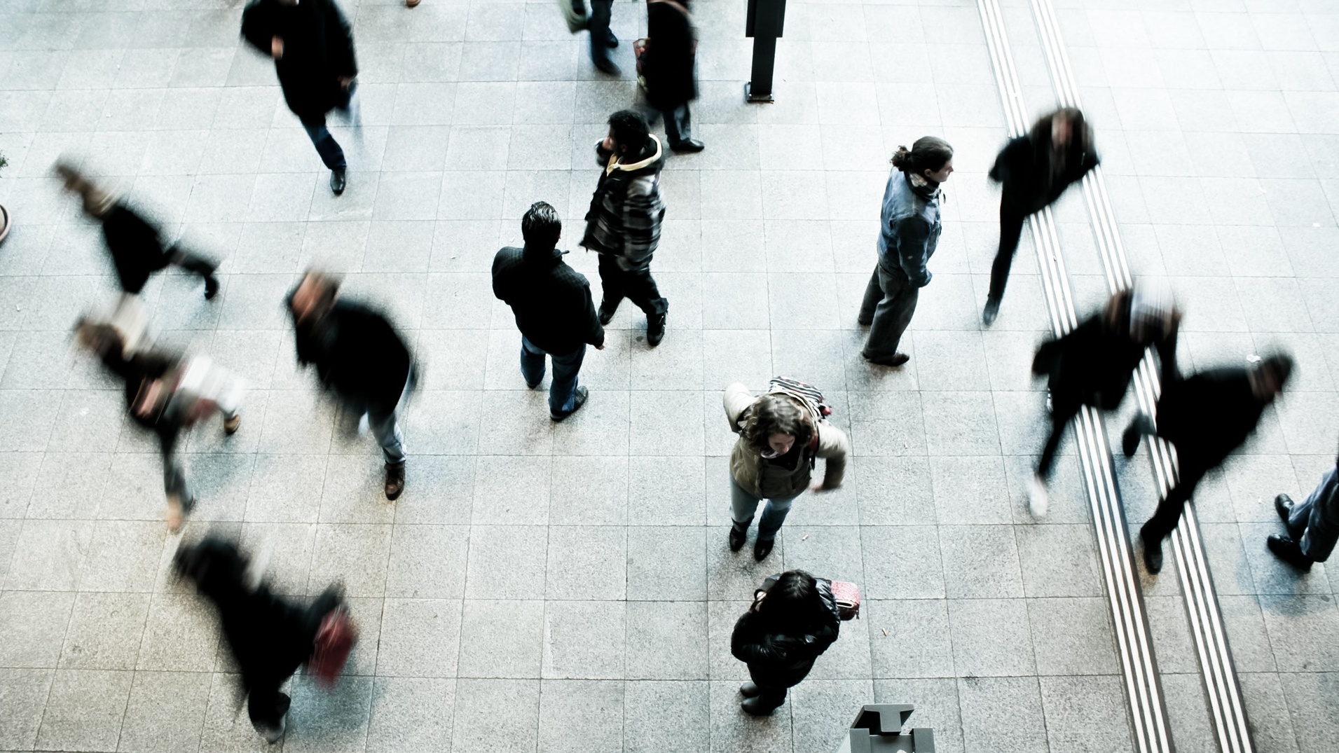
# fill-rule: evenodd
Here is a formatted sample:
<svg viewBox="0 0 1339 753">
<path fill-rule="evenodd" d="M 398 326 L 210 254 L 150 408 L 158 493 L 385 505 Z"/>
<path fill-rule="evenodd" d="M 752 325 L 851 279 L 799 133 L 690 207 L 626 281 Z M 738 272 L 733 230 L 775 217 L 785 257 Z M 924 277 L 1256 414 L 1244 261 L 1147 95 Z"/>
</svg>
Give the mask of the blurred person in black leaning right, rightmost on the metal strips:
<svg viewBox="0 0 1339 753">
<path fill-rule="evenodd" d="M 1134 455 L 1145 433 L 1156 433 L 1176 445 L 1176 486 L 1139 528 L 1149 572 L 1162 570 L 1162 539 L 1180 523 L 1181 508 L 1200 479 L 1247 441 L 1291 374 L 1292 358 L 1279 354 L 1255 357 L 1245 368 L 1210 369 L 1184 380 L 1164 380 L 1157 425 L 1148 416 L 1139 416 L 1125 429 L 1122 449 L 1126 457 Z"/>
</svg>

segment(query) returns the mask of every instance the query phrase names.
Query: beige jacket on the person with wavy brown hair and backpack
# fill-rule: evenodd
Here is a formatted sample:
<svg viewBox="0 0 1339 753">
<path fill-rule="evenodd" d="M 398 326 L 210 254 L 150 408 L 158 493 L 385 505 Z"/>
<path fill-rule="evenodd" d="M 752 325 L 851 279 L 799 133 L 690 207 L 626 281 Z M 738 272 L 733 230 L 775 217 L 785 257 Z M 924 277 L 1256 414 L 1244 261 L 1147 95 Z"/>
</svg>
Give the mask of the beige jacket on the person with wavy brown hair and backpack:
<svg viewBox="0 0 1339 753">
<path fill-rule="evenodd" d="M 755 400 L 757 397 L 749 392 L 749 388 L 739 383 L 726 388 L 723 403 L 731 431 L 739 431 L 739 416 Z M 803 405 L 801 409 L 807 411 Z M 834 490 L 841 486 L 842 476 L 846 473 L 848 453 L 850 453 L 850 440 L 846 439 L 845 432 L 828 421 L 818 421 L 818 448 L 814 455 L 825 461 L 823 488 Z M 785 477 L 778 477 L 777 472 L 763 473 L 762 456 L 758 455 L 757 449 L 749 447 L 744 437 L 740 436 L 730 452 L 730 476 L 746 492 L 759 499 L 773 499 L 803 492 L 809 487 L 810 469 L 807 460 L 803 460 Z"/>
</svg>

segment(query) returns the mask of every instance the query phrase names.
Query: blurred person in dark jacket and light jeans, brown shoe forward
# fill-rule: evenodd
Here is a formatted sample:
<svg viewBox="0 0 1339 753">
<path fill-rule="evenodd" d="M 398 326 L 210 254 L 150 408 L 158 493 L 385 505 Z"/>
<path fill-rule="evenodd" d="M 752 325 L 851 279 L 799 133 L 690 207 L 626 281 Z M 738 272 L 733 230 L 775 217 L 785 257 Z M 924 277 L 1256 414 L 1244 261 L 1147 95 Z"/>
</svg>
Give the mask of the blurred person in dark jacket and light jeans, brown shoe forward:
<svg viewBox="0 0 1339 753">
<path fill-rule="evenodd" d="M 297 362 L 315 364 L 321 385 L 352 416 L 366 416 L 386 455 L 386 499 L 404 491 L 404 435 L 399 413 L 412 388 L 414 358 L 380 313 L 340 301 L 339 280 L 308 270 L 288 297 Z"/>
</svg>

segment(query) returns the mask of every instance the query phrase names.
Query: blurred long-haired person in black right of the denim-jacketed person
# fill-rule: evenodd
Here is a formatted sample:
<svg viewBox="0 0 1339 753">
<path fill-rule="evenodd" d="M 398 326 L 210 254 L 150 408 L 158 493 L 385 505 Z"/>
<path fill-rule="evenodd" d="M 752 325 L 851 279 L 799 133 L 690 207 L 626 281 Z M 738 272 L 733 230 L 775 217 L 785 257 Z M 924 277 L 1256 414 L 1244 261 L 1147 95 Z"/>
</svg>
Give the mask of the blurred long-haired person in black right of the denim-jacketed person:
<svg viewBox="0 0 1339 753">
<path fill-rule="evenodd" d="M 1060 198 L 1065 189 L 1083 179 L 1099 159 L 1093 150 L 1093 128 L 1083 112 L 1063 107 L 1043 115 L 1027 134 L 1010 139 L 990 178 L 1000 183 L 1000 245 L 991 265 L 991 288 L 981 321 L 995 324 L 1004 298 L 1008 270 L 1023 235 L 1023 221 Z"/>
</svg>

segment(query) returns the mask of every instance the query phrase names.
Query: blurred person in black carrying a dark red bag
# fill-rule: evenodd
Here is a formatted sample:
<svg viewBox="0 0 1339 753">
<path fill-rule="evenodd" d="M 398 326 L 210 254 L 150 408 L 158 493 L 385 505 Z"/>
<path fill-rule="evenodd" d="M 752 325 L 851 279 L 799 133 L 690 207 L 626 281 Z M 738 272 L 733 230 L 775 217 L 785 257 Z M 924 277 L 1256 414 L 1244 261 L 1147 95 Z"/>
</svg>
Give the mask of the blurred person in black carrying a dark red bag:
<svg viewBox="0 0 1339 753">
<path fill-rule="evenodd" d="M 209 536 L 183 544 L 173 558 L 177 574 L 218 609 L 224 639 L 241 673 L 252 725 L 273 744 L 284 736 L 291 700 L 280 687 L 307 665 L 333 683 L 358 641 L 339 586 L 301 606 L 253 583 L 250 559 L 234 544 Z"/>
</svg>

